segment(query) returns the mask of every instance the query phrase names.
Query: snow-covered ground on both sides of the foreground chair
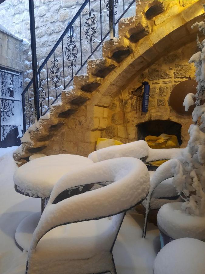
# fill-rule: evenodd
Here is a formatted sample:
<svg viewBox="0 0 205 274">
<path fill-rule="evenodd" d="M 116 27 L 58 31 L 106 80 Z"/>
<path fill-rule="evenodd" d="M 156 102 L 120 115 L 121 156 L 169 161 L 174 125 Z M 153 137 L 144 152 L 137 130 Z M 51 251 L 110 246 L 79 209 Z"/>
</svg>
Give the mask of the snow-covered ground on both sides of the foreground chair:
<svg viewBox="0 0 205 274">
<path fill-rule="evenodd" d="M 24 274 L 26 252 L 16 247 L 15 229 L 20 221 L 40 211 L 40 200 L 14 190 L 13 174 L 18 168 L 12 158 L 13 148 L 0 148 L 0 274 Z M 142 238 L 144 218 L 130 211 L 123 221 L 113 255 L 118 274 L 153 274 L 153 262 L 160 250 L 159 230 L 148 224 Z"/>
</svg>

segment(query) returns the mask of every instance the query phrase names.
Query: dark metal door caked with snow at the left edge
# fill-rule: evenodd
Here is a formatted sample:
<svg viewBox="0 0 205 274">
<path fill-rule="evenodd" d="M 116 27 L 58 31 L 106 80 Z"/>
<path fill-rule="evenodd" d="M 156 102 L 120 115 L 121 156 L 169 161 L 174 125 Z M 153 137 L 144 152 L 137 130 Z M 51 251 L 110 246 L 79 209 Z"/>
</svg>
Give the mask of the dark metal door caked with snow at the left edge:
<svg viewBox="0 0 205 274">
<path fill-rule="evenodd" d="M 19 146 L 22 137 L 22 74 L 0 67 L 0 147 Z"/>
</svg>

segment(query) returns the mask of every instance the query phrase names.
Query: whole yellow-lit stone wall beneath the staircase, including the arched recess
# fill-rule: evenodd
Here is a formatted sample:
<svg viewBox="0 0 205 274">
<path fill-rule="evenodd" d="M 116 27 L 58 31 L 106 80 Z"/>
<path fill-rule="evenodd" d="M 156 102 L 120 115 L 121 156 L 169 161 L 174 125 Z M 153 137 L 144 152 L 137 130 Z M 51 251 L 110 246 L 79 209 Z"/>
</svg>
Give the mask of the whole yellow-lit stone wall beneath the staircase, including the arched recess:
<svg viewBox="0 0 205 274">
<path fill-rule="evenodd" d="M 192 123 L 191 115 L 177 114 L 169 106 L 169 96 L 173 87 L 190 76 L 194 79 L 194 66 L 188 64 L 193 53 L 197 51 L 196 41 L 187 43 L 169 54 L 164 55 L 145 71 L 136 72 L 134 79 L 127 75 L 124 79 L 123 98 L 127 117 L 129 141 L 138 140 L 136 125 L 151 120 L 170 120 L 182 125 L 181 147 L 185 147 L 188 140 L 188 128 Z M 141 85 L 142 81 L 150 83 L 149 111 L 136 113 L 135 99 L 132 100 L 131 91 Z M 97 93 L 95 94 L 98 97 Z M 95 97 L 95 96 L 94 96 Z M 46 155 L 71 153 L 87 156 L 96 149 L 98 137 L 117 139 L 127 143 L 125 116 L 121 91 L 114 96 L 104 107 L 88 101 L 75 113 L 68 117 L 64 125 L 56 128 L 55 136 L 50 139 L 49 145 L 42 150 Z M 134 105 L 132 107 L 132 104 Z M 142 102 L 140 102 L 142 104 Z"/>
</svg>

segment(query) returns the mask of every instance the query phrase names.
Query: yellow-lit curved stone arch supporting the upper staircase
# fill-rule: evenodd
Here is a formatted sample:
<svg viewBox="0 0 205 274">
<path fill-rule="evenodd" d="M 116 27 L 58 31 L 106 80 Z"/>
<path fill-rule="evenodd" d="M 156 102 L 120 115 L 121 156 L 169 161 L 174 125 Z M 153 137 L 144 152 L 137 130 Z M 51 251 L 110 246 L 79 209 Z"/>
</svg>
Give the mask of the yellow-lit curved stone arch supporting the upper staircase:
<svg viewBox="0 0 205 274">
<path fill-rule="evenodd" d="M 163 4 L 163 9 L 165 9 L 168 1 L 151 1 L 153 4 L 157 2 L 165 2 Z M 149 3 L 149 5 L 151 4 Z M 146 10 L 144 6 L 142 9 Z M 169 12 L 170 9 L 168 10 Z M 191 26 L 196 21 L 200 22 L 204 19 L 203 8 L 200 1 L 197 1 L 189 8 L 181 12 L 178 11 L 173 16 L 165 11 L 157 19 L 157 25 L 153 24 L 153 21 L 149 22 L 147 20 L 150 32 L 135 44 L 131 43 L 127 38 L 119 40 L 119 44 L 114 47 L 111 41 L 107 41 L 104 44 L 104 48 L 106 47 L 106 58 L 111 58 L 116 48 L 129 47 L 132 53 L 105 77 L 105 81 L 93 92 L 91 104 L 108 107 L 114 95 L 123 89 L 125 79 L 128 80 L 133 76 L 135 77 L 163 55 L 196 39 L 197 28 L 191 29 Z"/>
</svg>

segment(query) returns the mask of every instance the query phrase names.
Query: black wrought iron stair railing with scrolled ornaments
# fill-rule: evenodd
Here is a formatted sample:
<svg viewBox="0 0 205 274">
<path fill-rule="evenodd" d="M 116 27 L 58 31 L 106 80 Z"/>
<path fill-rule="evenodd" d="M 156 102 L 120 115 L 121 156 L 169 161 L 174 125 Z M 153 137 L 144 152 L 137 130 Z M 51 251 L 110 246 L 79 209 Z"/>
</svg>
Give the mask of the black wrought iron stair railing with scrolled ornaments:
<svg viewBox="0 0 205 274">
<path fill-rule="evenodd" d="M 35 113 L 43 116 L 50 105 L 58 100 L 61 91 L 72 86 L 74 75 L 86 72 L 87 60 L 95 58 L 95 52 L 102 47 L 104 40 L 115 37 L 119 20 L 131 10 L 133 4 L 135 0 L 84 1 L 38 68 L 37 102 L 34 102 L 33 79 L 22 92 L 24 132 L 36 118 L 39 120 Z M 95 15 L 96 10 L 99 16 Z M 39 108 L 38 112 L 34 111 L 34 106 Z"/>
</svg>

